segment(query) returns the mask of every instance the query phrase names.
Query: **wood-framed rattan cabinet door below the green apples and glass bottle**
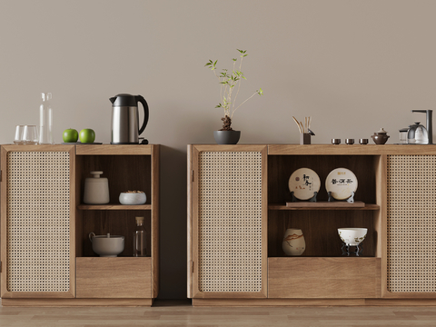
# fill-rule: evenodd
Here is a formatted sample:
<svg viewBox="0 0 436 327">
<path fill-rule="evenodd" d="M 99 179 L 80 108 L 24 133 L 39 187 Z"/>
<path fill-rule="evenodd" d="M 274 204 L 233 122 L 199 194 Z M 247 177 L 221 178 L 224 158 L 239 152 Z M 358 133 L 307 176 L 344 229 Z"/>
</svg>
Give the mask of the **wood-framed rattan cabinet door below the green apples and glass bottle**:
<svg viewBox="0 0 436 327">
<path fill-rule="evenodd" d="M 2 298 L 74 297 L 74 146 L 5 145 Z"/>
</svg>

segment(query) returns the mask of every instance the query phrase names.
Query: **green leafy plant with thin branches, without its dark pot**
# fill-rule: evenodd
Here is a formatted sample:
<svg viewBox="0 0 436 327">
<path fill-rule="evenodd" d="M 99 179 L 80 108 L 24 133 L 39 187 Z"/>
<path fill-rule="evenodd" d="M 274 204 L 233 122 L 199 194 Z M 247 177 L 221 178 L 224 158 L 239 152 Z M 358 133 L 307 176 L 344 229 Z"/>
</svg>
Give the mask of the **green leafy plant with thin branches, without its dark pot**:
<svg viewBox="0 0 436 327">
<path fill-rule="evenodd" d="M 236 99 L 239 94 L 239 90 L 241 88 L 241 81 L 244 79 L 246 80 L 245 76 L 242 72 L 243 67 L 243 58 L 246 57 L 247 51 L 246 50 L 239 50 L 240 53 L 240 61 L 239 61 L 239 67 L 236 69 L 236 64 L 238 59 L 233 58 L 233 70 L 232 72 L 229 72 L 228 69 L 223 69 L 220 74 L 216 73 L 216 64 L 218 63 L 218 60 L 215 60 L 214 62 L 212 60 L 209 60 L 208 63 L 204 64 L 205 67 L 209 67 L 215 76 L 218 78 L 221 84 L 221 90 L 220 90 L 220 98 L 221 102 L 215 106 L 215 108 L 223 108 L 224 109 L 224 117 L 221 118 L 223 121 L 223 128 L 220 131 L 233 131 L 232 129 L 232 119 L 233 114 L 238 108 L 245 104 L 248 100 L 250 100 L 254 95 L 259 94 L 262 95 L 263 91 L 261 88 L 254 92 L 250 97 L 248 97 L 245 101 L 243 101 L 242 104 L 239 104 L 236 106 Z M 235 91 L 234 98 L 233 98 L 233 92 Z"/>
</svg>

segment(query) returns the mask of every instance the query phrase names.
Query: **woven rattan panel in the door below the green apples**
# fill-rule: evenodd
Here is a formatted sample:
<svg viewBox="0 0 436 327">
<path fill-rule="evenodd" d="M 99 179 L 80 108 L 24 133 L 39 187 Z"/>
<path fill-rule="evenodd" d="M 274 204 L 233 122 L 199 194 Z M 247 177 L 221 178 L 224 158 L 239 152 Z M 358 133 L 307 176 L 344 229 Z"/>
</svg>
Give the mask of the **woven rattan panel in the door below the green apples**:
<svg viewBox="0 0 436 327">
<path fill-rule="evenodd" d="M 69 154 L 7 154 L 7 290 L 70 288 Z"/>
</svg>

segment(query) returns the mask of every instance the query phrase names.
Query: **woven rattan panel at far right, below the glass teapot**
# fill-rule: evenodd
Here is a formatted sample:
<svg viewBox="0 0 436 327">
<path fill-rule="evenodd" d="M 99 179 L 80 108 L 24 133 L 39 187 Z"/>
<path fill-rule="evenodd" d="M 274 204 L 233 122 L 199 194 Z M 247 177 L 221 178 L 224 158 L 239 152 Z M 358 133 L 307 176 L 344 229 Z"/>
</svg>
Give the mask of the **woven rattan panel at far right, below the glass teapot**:
<svg viewBox="0 0 436 327">
<path fill-rule="evenodd" d="M 388 156 L 390 292 L 436 292 L 436 156 Z"/>
</svg>

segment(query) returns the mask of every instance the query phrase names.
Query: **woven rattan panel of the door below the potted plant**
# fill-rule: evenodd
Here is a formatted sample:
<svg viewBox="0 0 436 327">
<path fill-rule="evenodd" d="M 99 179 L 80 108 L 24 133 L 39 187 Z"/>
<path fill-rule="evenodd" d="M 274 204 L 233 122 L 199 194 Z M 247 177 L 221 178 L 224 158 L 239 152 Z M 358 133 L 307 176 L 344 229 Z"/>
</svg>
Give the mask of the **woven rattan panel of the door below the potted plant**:
<svg viewBox="0 0 436 327">
<path fill-rule="evenodd" d="M 199 290 L 262 290 L 262 154 L 200 154 Z"/>
</svg>

